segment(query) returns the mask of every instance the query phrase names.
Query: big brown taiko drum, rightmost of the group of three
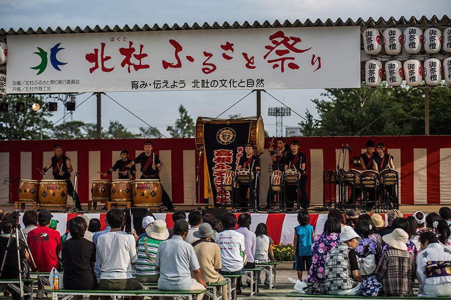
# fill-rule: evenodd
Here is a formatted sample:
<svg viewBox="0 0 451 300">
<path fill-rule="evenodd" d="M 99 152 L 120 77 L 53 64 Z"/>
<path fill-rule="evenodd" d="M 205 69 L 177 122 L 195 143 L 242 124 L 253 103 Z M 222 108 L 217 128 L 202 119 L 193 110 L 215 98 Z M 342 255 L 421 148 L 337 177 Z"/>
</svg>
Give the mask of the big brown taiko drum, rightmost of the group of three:
<svg viewBox="0 0 451 300">
<path fill-rule="evenodd" d="M 133 206 L 161 205 L 163 189 L 159 179 L 136 179 L 133 182 Z"/>
</svg>

